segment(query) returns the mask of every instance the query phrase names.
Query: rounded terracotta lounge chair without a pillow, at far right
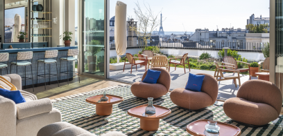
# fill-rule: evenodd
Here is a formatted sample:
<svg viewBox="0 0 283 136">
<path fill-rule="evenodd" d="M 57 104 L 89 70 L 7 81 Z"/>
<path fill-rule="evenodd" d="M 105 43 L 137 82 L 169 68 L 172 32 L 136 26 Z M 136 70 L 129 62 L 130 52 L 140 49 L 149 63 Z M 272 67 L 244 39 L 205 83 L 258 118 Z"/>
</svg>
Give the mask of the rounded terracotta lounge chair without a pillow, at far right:
<svg viewBox="0 0 283 136">
<path fill-rule="evenodd" d="M 282 95 L 269 81 L 249 80 L 239 88 L 237 97 L 225 101 L 223 110 L 234 121 L 262 126 L 279 117 Z"/>
</svg>

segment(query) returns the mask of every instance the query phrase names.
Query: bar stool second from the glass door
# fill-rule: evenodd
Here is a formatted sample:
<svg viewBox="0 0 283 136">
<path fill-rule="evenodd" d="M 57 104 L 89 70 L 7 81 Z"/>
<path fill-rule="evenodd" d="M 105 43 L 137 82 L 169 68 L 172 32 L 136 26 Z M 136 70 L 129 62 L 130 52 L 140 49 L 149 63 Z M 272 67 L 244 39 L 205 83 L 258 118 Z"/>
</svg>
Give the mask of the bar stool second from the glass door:
<svg viewBox="0 0 283 136">
<path fill-rule="evenodd" d="M 53 58 L 56 58 L 56 59 L 53 59 Z M 45 55 L 44 55 L 44 59 L 38 59 L 37 60 L 37 77 L 44 77 L 44 84 L 45 84 L 44 88 L 45 88 L 45 90 L 46 90 L 46 75 L 49 75 L 49 83 L 50 83 L 51 75 L 55 75 L 55 74 L 51 74 L 51 64 L 54 64 L 54 63 L 56 64 L 56 76 L 57 76 L 57 82 L 58 82 L 58 87 L 59 87 L 57 59 L 58 59 L 58 50 L 46 50 Z M 38 64 L 40 64 L 40 63 L 44 64 L 44 75 L 38 74 Z M 49 73 L 48 74 L 46 74 L 45 64 L 49 64 Z M 36 77 L 36 81 L 37 81 L 37 77 Z"/>
</svg>

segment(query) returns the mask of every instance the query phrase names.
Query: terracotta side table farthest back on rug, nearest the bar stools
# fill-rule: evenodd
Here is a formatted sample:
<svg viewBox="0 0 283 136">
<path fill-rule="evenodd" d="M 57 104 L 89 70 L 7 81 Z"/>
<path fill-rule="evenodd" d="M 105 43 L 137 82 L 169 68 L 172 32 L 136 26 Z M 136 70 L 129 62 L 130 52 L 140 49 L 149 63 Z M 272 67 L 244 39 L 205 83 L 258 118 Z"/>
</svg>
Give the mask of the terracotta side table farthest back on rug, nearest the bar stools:
<svg viewBox="0 0 283 136">
<path fill-rule="evenodd" d="M 117 104 L 123 101 L 123 97 L 115 96 L 115 95 L 106 95 L 108 97 L 108 101 L 100 101 L 98 102 L 103 95 L 96 95 L 94 97 L 89 97 L 85 101 L 90 104 L 96 104 L 96 115 L 107 116 L 112 114 L 112 105 Z"/>
</svg>

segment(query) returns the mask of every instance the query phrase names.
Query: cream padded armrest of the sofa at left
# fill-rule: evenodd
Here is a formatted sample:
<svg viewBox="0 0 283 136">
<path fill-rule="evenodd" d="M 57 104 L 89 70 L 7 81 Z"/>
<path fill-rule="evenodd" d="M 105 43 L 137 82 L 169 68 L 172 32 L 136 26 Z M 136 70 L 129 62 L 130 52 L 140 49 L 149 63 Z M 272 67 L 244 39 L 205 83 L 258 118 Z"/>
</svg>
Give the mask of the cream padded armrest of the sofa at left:
<svg viewBox="0 0 283 136">
<path fill-rule="evenodd" d="M 49 98 L 28 101 L 26 103 L 17 104 L 16 106 L 18 119 L 48 113 L 52 110 L 52 103 Z"/>
</svg>

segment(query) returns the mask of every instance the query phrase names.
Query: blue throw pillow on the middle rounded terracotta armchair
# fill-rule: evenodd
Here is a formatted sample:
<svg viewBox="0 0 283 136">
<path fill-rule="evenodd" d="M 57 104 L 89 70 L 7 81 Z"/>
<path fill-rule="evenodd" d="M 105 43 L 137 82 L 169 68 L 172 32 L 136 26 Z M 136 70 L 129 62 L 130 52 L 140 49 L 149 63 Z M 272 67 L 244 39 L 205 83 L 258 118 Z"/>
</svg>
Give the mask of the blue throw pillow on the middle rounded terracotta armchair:
<svg viewBox="0 0 283 136">
<path fill-rule="evenodd" d="M 201 92 L 201 86 L 203 86 L 204 75 L 194 75 L 189 73 L 189 80 L 186 86 L 186 90 L 192 90 L 195 92 Z"/>
</svg>

